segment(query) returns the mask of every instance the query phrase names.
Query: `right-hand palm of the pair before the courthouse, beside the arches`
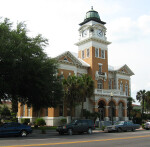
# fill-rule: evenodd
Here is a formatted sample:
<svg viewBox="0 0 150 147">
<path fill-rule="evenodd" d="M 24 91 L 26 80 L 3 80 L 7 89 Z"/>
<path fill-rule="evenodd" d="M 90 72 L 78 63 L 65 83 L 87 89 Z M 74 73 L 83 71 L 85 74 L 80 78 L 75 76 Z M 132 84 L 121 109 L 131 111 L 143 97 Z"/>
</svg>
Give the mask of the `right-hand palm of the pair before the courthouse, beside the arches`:
<svg viewBox="0 0 150 147">
<path fill-rule="evenodd" d="M 86 101 L 86 98 L 91 98 L 94 94 L 94 81 L 89 75 L 82 75 L 82 77 L 78 79 L 78 83 L 81 102 L 81 117 L 83 117 L 83 104 Z"/>
</svg>

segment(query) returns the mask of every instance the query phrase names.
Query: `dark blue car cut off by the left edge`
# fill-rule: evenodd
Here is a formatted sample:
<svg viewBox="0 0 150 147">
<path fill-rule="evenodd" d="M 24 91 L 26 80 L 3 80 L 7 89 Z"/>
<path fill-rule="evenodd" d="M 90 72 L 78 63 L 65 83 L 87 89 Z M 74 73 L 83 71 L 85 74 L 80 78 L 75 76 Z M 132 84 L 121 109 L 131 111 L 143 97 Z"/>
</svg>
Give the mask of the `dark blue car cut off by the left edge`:
<svg viewBox="0 0 150 147">
<path fill-rule="evenodd" d="M 32 133 L 31 127 L 20 123 L 4 123 L 0 126 L 0 136 L 19 135 L 25 137 L 30 133 Z"/>
</svg>

